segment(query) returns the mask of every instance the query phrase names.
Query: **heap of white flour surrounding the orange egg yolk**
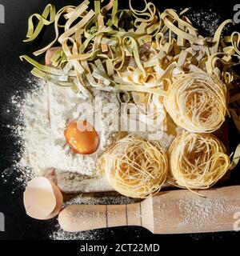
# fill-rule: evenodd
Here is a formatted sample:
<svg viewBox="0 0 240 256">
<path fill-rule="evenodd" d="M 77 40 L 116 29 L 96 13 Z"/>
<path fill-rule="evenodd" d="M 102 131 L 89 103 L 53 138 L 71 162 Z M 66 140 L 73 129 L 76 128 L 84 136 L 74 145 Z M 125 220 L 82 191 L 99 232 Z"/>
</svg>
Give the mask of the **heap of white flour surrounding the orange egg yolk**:
<svg viewBox="0 0 240 256">
<path fill-rule="evenodd" d="M 102 106 L 96 103 L 97 115 L 100 116 L 102 107 L 106 110 L 100 120 L 100 146 L 94 154 L 74 154 L 66 145 L 64 130 L 67 122 L 78 118 L 82 98 L 70 89 L 62 89 L 42 81 L 38 81 L 37 87 L 34 92 L 26 94 L 21 108 L 24 122 L 21 134 L 24 139 L 21 165 L 30 166 L 35 174 L 42 174 L 45 170 L 54 168 L 58 171 L 92 175 L 97 170 L 99 154 L 112 142 L 115 124 L 113 121 L 110 124 L 109 120 L 111 114 L 114 117 L 118 114 L 117 98 L 113 94 L 100 91 L 95 93 L 98 100 L 99 97 L 102 98 Z M 94 106 L 94 102 L 89 100 L 88 103 L 89 106 Z"/>
</svg>

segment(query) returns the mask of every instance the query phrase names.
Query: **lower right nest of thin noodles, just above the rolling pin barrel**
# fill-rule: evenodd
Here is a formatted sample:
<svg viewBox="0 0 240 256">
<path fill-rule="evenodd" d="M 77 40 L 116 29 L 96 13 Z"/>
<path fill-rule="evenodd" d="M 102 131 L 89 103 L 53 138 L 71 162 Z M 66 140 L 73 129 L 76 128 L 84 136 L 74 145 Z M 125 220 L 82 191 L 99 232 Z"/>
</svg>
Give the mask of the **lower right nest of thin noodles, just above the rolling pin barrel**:
<svg viewBox="0 0 240 256">
<path fill-rule="evenodd" d="M 189 190 L 210 188 L 230 167 L 230 158 L 225 152 L 222 142 L 214 135 L 183 132 L 168 151 L 168 182 Z"/>
</svg>

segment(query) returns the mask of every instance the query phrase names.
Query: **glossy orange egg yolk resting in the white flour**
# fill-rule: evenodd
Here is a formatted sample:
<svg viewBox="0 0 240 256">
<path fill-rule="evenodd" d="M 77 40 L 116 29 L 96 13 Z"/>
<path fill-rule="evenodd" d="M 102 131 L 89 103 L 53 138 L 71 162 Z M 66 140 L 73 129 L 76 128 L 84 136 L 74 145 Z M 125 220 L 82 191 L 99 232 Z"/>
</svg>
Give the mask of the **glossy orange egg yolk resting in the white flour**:
<svg viewBox="0 0 240 256">
<path fill-rule="evenodd" d="M 98 149 L 99 136 L 89 122 L 70 122 L 64 135 L 66 142 L 76 154 L 93 154 Z"/>
</svg>

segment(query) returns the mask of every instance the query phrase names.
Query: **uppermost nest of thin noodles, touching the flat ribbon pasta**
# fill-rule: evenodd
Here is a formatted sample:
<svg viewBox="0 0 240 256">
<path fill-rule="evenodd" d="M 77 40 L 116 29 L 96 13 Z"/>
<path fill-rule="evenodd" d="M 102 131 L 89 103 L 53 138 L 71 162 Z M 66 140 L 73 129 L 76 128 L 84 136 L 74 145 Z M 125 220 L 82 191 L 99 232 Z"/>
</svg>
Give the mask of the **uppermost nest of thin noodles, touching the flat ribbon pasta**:
<svg viewBox="0 0 240 256">
<path fill-rule="evenodd" d="M 203 72 L 183 74 L 169 87 L 165 106 L 178 126 L 193 133 L 211 133 L 225 120 L 226 85 Z"/>
</svg>

